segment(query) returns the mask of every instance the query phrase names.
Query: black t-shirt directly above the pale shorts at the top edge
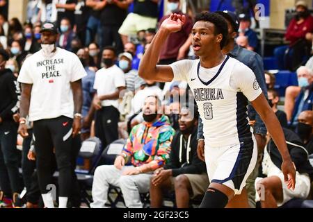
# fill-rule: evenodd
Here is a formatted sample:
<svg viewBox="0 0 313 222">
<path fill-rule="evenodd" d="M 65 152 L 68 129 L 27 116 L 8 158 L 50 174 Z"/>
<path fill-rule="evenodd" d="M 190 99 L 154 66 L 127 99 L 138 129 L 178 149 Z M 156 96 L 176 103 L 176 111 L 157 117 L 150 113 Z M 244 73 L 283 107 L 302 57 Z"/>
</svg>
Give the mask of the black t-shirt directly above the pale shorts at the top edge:
<svg viewBox="0 0 313 222">
<path fill-rule="evenodd" d="M 158 3 L 151 0 L 134 0 L 134 13 L 147 17 L 158 17 Z"/>
</svg>

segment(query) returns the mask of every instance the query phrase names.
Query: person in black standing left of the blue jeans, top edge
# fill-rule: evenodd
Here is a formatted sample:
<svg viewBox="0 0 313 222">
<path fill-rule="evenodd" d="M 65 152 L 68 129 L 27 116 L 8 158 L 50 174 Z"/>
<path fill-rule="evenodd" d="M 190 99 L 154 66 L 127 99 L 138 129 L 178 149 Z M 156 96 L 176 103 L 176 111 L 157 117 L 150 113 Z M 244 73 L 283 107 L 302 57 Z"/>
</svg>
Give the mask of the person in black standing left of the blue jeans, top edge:
<svg viewBox="0 0 313 222">
<path fill-rule="evenodd" d="M 86 0 L 77 0 L 74 17 L 74 33 L 76 33 L 77 37 L 79 37 L 79 40 L 85 44 L 87 22 L 90 17 L 90 8 L 86 6 Z"/>
</svg>

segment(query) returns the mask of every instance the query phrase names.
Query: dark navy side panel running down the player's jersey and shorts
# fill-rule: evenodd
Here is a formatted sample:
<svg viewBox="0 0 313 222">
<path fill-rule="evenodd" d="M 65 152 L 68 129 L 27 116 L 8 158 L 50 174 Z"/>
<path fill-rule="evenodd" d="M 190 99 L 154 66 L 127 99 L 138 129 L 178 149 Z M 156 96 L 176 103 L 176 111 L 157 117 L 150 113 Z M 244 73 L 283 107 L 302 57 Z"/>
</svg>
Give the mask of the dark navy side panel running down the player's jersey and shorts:
<svg viewBox="0 0 313 222">
<path fill-rule="evenodd" d="M 247 119 L 248 99 L 242 92 L 237 92 L 236 101 L 236 128 L 240 142 L 239 153 L 236 157 L 236 162 L 230 176 L 224 180 L 211 180 L 211 182 L 223 184 L 228 180 L 232 180 L 232 182 L 234 182 L 234 188 L 239 190 L 252 159 L 254 142 L 252 140 L 252 133 L 250 132 L 250 126 Z"/>
</svg>

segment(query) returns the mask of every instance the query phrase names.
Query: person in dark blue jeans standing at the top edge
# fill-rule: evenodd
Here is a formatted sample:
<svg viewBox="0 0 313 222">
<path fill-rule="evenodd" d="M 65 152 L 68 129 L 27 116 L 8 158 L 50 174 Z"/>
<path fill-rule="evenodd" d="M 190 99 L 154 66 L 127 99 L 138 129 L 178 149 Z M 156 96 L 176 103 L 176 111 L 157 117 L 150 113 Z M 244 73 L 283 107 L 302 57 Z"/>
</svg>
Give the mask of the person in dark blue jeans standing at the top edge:
<svg viewBox="0 0 313 222">
<path fill-rule="evenodd" d="M 100 22 L 101 10 L 103 0 L 86 0 L 86 6 L 90 8 L 90 17 L 86 28 L 86 45 L 95 42 L 97 35 L 97 42 L 102 42 L 102 26 Z"/>
</svg>

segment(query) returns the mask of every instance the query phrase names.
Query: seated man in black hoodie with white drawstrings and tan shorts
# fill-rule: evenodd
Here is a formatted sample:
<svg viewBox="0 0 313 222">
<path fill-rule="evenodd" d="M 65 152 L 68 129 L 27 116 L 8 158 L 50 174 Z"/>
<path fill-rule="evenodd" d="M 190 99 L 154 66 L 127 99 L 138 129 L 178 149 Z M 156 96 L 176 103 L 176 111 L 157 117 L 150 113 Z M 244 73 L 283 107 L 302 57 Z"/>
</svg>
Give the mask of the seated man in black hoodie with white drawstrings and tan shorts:
<svg viewBox="0 0 313 222">
<path fill-rule="evenodd" d="M 151 207 L 159 208 L 164 194 L 175 191 L 177 208 L 188 208 L 189 200 L 203 195 L 209 187 L 205 163 L 197 155 L 198 111 L 193 105 L 182 108 L 179 131 L 170 144 L 170 159 L 154 171 L 150 184 Z"/>
</svg>

